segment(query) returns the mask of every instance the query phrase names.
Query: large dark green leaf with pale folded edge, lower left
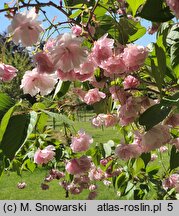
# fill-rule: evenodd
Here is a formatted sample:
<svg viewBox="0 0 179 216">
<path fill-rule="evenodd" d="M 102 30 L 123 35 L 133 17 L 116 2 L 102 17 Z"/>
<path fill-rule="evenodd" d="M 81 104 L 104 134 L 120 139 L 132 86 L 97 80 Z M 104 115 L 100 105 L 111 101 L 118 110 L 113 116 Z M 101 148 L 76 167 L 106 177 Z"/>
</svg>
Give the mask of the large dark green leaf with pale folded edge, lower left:
<svg viewBox="0 0 179 216">
<path fill-rule="evenodd" d="M 3 154 L 10 160 L 14 158 L 17 151 L 24 145 L 35 126 L 36 118 L 37 114 L 35 112 L 15 115 L 10 118 L 0 144 Z"/>
</svg>

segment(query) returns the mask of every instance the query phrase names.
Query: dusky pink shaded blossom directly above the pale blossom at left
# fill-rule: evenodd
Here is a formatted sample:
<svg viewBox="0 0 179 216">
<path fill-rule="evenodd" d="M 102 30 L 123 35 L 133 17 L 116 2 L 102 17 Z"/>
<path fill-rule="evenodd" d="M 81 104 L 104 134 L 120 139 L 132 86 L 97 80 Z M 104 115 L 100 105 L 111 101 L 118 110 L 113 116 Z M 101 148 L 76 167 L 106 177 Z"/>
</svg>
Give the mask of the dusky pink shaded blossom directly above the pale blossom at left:
<svg viewBox="0 0 179 216">
<path fill-rule="evenodd" d="M 53 73 L 54 65 L 52 60 L 45 52 L 39 52 L 34 56 L 34 61 L 37 63 L 39 73 Z"/>
</svg>

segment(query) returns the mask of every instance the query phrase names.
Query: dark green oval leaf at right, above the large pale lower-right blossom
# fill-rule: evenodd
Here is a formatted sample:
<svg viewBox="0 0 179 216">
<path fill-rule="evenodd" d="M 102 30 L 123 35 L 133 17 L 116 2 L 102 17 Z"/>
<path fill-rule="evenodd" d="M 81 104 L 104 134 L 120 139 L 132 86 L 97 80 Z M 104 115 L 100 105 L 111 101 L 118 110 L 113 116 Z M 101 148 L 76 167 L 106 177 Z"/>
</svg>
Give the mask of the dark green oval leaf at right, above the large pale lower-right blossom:
<svg viewBox="0 0 179 216">
<path fill-rule="evenodd" d="M 145 126 L 146 130 L 150 130 L 153 126 L 163 121 L 170 110 L 170 106 L 163 106 L 161 103 L 155 104 L 140 115 L 139 124 Z"/>
</svg>

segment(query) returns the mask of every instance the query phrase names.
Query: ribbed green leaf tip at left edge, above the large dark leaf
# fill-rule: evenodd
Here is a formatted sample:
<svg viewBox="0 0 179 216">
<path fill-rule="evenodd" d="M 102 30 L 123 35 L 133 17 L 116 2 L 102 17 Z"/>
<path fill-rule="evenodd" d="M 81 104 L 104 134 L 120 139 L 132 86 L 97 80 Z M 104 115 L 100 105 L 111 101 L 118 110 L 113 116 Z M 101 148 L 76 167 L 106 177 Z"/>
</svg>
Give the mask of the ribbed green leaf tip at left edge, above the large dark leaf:
<svg viewBox="0 0 179 216">
<path fill-rule="evenodd" d="M 15 101 L 11 99 L 7 94 L 0 93 L 0 119 L 3 115 L 15 105 Z"/>
</svg>

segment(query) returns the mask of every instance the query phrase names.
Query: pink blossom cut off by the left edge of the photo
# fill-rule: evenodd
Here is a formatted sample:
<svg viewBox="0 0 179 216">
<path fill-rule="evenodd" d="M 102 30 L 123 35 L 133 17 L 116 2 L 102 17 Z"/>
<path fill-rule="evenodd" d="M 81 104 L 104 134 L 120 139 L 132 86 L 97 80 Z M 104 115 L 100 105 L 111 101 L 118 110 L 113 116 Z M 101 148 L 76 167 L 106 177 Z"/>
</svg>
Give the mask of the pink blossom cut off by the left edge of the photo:
<svg viewBox="0 0 179 216">
<path fill-rule="evenodd" d="M 11 66 L 4 63 L 0 63 L 0 81 L 8 82 L 11 81 L 17 74 L 18 70 Z"/>
</svg>

